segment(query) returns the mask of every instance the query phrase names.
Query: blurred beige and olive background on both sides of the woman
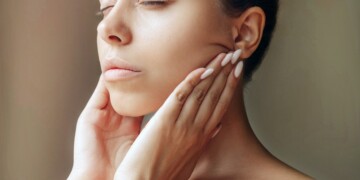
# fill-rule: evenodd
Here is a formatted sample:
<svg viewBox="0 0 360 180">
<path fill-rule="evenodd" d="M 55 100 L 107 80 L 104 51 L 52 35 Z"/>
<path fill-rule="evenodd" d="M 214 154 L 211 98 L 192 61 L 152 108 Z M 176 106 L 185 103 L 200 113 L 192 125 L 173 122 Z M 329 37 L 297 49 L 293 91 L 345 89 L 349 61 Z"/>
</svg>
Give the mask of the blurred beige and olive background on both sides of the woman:
<svg viewBox="0 0 360 180">
<path fill-rule="evenodd" d="M 65 179 L 76 119 L 100 73 L 96 0 L 0 2 L 0 179 Z M 279 159 L 317 179 L 360 176 L 360 1 L 282 0 L 246 89 Z"/>
</svg>

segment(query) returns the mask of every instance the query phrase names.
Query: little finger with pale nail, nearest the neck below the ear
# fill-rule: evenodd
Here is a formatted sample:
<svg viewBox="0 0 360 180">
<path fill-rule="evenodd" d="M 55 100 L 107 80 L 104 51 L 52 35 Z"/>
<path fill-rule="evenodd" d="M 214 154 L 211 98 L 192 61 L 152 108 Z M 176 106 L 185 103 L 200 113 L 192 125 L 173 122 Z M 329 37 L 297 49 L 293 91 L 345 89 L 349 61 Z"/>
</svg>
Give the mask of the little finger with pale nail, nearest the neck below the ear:
<svg viewBox="0 0 360 180">
<path fill-rule="evenodd" d="M 205 125 L 205 132 L 213 132 L 216 131 L 216 127 L 220 123 L 222 117 L 224 116 L 226 110 L 228 109 L 231 100 L 233 99 L 233 95 L 236 91 L 237 85 L 239 83 L 239 80 L 243 76 L 243 61 L 240 61 L 235 69 L 233 69 L 228 76 L 226 86 L 220 96 L 220 99 L 215 107 L 215 110 L 213 111 L 213 114 L 210 117 L 209 122 Z M 236 75 L 238 77 L 236 77 Z"/>
</svg>

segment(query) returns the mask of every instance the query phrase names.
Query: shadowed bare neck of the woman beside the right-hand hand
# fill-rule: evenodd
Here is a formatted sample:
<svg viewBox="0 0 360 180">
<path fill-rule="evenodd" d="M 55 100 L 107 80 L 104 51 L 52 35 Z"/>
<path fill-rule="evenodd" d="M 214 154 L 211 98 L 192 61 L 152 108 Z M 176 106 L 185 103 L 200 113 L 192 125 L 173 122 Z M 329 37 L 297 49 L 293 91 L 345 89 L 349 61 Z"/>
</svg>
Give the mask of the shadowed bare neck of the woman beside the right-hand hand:
<svg viewBox="0 0 360 180">
<path fill-rule="evenodd" d="M 246 174 L 250 167 L 269 157 L 250 127 L 242 87 L 239 88 L 222 119 L 222 129 L 206 147 L 191 177 L 231 179 L 242 171 Z"/>
</svg>

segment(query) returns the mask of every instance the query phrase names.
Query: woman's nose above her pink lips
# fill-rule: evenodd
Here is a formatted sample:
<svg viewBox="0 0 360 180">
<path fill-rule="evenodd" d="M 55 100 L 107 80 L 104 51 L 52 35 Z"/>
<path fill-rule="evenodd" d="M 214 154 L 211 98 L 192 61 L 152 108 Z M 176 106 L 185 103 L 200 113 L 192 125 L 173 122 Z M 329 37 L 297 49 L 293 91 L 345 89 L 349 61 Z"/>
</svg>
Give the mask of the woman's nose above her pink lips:
<svg viewBox="0 0 360 180">
<path fill-rule="evenodd" d="M 132 39 L 129 26 L 127 25 L 129 17 L 127 17 L 126 9 L 123 7 L 118 2 L 97 27 L 97 32 L 101 39 L 114 46 L 129 44 Z"/>
</svg>

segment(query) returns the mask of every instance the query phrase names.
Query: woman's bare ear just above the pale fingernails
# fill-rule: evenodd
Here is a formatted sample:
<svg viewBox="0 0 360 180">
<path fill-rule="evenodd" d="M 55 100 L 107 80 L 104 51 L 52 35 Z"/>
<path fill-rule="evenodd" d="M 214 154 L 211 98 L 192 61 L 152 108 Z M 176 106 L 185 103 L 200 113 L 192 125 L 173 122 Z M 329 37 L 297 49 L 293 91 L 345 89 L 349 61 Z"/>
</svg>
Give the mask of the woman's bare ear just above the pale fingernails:
<svg viewBox="0 0 360 180">
<path fill-rule="evenodd" d="M 242 59 L 249 58 L 260 44 L 265 27 L 265 13 L 259 7 L 251 7 L 233 19 L 235 49 L 242 49 Z"/>
</svg>

